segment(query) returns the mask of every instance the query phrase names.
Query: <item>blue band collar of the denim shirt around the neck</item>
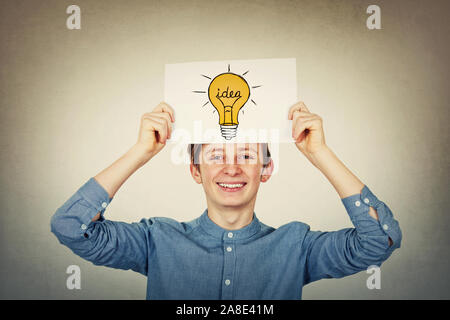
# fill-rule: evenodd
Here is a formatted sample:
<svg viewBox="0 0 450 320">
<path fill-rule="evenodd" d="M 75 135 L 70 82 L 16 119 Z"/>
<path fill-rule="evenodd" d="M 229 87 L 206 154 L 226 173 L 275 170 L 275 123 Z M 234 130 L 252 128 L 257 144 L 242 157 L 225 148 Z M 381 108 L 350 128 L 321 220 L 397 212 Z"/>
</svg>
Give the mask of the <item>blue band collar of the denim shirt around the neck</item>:
<svg viewBox="0 0 450 320">
<path fill-rule="evenodd" d="M 208 216 L 208 209 L 205 209 L 199 218 L 202 228 L 211 236 L 223 240 L 247 239 L 261 230 L 261 224 L 253 212 L 252 222 L 238 230 L 227 230 L 214 223 Z"/>
</svg>

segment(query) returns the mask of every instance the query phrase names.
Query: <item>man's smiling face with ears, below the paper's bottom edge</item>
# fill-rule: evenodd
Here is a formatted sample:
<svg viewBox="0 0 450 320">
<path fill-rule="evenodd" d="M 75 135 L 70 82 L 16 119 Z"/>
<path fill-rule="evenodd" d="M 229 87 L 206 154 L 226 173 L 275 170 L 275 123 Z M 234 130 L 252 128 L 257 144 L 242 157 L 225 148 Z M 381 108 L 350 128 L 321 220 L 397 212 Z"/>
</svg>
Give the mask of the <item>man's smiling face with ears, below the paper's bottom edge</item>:
<svg viewBox="0 0 450 320">
<path fill-rule="evenodd" d="M 208 207 L 254 208 L 259 185 L 273 170 L 272 160 L 263 168 L 261 144 L 204 144 L 201 149 L 199 166 L 191 163 L 190 168 L 203 185 Z"/>
</svg>

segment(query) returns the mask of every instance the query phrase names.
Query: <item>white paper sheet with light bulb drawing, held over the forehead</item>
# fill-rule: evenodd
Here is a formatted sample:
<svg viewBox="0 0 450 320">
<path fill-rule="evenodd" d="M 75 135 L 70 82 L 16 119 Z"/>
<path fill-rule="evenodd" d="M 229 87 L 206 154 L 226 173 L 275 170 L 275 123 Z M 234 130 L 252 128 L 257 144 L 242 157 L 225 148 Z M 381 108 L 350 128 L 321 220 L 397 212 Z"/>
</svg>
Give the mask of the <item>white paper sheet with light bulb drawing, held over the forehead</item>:
<svg viewBox="0 0 450 320">
<path fill-rule="evenodd" d="M 213 82 L 217 76 L 229 73 L 244 79 L 249 89 L 248 100 L 240 109 L 239 103 L 246 98 L 244 82 L 236 76 L 223 75 L 220 84 L 217 85 L 219 78 Z M 174 130 L 169 142 L 292 142 L 292 121 L 287 120 L 287 116 L 289 108 L 297 102 L 296 60 L 167 64 L 164 96 L 165 102 L 175 110 Z M 231 98 L 227 100 L 227 96 Z M 239 112 L 233 108 L 238 108 Z M 224 115 L 222 119 L 227 119 L 222 125 L 219 124 L 220 112 Z"/>
</svg>

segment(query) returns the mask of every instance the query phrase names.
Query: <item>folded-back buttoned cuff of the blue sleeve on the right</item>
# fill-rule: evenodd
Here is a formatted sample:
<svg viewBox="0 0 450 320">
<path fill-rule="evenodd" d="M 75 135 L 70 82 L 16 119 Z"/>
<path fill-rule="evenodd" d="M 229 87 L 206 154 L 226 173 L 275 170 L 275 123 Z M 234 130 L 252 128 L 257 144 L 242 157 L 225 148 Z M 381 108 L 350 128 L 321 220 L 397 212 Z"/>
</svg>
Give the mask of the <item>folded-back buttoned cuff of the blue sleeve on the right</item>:
<svg viewBox="0 0 450 320">
<path fill-rule="evenodd" d="M 354 194 L 342 199 L 350 219 L 359 231 L 388 235 L 393 244 L 390 249 L 399 248 L 401 231 L 398 222 L 394 219 L 392 211 L 380 201 L 367 187 L 360 194 Z M 369 215 L 369 208 L 373 207 L 378 214 L 378 221 Z"/>
</svg>

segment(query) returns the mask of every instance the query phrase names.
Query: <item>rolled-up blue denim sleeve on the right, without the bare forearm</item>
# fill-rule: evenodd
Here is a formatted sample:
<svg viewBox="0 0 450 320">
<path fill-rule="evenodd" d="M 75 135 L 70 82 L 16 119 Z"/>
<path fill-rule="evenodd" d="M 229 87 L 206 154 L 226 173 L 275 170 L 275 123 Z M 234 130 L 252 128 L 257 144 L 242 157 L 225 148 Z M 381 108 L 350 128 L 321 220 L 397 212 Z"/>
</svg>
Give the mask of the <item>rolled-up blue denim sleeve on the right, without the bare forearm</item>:
<svg viewBox="0 0 450 320">
<path fill-rule="evenodd" d="M 306 252 L 304 284 L 380 266 L 400 248 L 402 233 L 398 221 L 367 186 L 361 193 L 342 199 L 342 203 L 355 228 L 306 233 L 302 245 Z M 377 211 L 378 220 L 370 216 L 370 207 Z"/>
</svg>

